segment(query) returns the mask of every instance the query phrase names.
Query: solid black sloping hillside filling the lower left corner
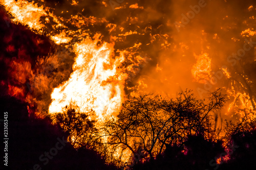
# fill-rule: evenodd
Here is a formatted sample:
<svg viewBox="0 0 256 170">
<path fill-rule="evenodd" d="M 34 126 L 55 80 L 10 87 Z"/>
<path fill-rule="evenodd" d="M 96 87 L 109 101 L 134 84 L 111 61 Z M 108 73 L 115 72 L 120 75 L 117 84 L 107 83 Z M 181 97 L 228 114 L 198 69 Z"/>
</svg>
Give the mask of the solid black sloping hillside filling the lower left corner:
<svg viewBox="0 0 256 170">
<path fill-rule="evenodd" d="M 70 143 L 63 141 L 63 138 L 67 140 L 68 136 L 57 126 L 53 126 L 49 118 L 36 118 L 33 113 L 29 113 L 26 103 L 8 96 L 2 96 L 0 102 L 1 119 L 4 117 L 3 113 L 8 112 L 9 137 L 8 167 L 3 163 L 2 145 L 3 168 L 0 169 L 115 169 L 115 166 L 106 165 L 95 151 L 82 147 L 76 150 Z M 3 122 L 0 123 L 2 133 L 4 126 Z M 1 141 L 3 144 L 3 138 Z"/>
</svg>

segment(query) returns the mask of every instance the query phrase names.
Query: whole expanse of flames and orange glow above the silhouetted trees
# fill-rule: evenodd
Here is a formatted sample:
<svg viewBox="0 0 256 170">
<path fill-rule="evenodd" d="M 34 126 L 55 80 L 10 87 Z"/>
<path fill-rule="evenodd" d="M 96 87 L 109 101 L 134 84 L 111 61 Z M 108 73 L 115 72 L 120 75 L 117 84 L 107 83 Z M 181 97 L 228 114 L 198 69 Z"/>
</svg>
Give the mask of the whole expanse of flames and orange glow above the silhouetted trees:
<svg viewBox="0 0 256 170">
<path fill-rule="evenodd" d="M 0 0 L 13 22 L 46 35 L 53 48 L 57 46 L 55 54 L 46 55 L 44 59 L 38 57 L 32 65 L 31 61 L 20 59 L 26 56 L 22 48 L 15 49 L 15 44 L 8 44 L 13 37 L 5 37 L 6 52 L 18 51 L 16 58 L 8 61 L 10 79 L 16 84 L 9 83 L 10 80 L 1 84 L 7 86 L 10 95 L 23 98 L 33 106 L 36 103 L 38 114 L 42 110 L 47 110 L 47 114 L 59 113 L 74 103 L 80 112 L 94 111 L 100 120 L 118 114 L 126 96 L 155 92 L 173 98 L 176 92 L 186 88 L 196 93 L 198 87 L 206 84 L 207 88 L 202 87 L 204 91 L 222 88 L 228 94 L 230 101 L 224 114 L 230 119 L 236 113 L 236 120 L 243 121 L 244 109 L 251 111 L 248 113 L 251 119 L 256 118 L 255 75 L 249 70 L 255 64 L 255 42 L 244 45 L 245 38 L 249 41 L 256 35 L 252 24 L 255 17 L 251 15 L 254 7 L 246 7 L 251 13 L 241 20 L 229 9 L 218 13 L 214 8 L 201 9 L 195 18 L 183 18 L 187 23 L 182 23 L 184 27 L 180 26 L 177 32 L 174 21 L 189 11 L 180 10 L 184 4 L 179 1 L 164 3 L 166 7 L 159 10 L 155 6 L 144 6 L 143 2 L 127 1 L 112 10 L 108 1 L 102 1 L 99 11 L 103 14 L 96 15 L 90 8 L 79 9 L 82 2 L 75 0 L 67 1 L 70 6 L 65 4 L 72 9 L 63 5 L 63 9 L 56 6 L 56 11 L 44 5 L 43 0 L 36 3 Z M 225 5 L 217 1 L 211 3 L 205 8 L 226 7 L 227 2 L 223 1 Z M 156 5 L 159 6 L 162 4 Z M 72 13 L 74 9 L 79 12 Z M 128 11 L 127 16 L 121 15 L 124 11 Z M 216 20 L 211 20 L 212 15 L 218 16 Z M 231 20 L 233 18 L 237 20 Z M 36 45 L 43 43 L 41 39 L 32 41 Z M 243 50 L 244 46 L 251 48 Z M 64 50 L 60 52 L 61 47 Z M 231 55 L 241 55 L 238 52 L 243 51 L 243 57 Z M 55 72 L 44 74 L 48 67 Z M 215 75 L 217 71 L 223 75 Z M 33 86 L 28 82 L 33 82 Z M 117 152 L 115 156 L 118 155 Z"/>
</svg>

